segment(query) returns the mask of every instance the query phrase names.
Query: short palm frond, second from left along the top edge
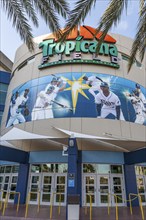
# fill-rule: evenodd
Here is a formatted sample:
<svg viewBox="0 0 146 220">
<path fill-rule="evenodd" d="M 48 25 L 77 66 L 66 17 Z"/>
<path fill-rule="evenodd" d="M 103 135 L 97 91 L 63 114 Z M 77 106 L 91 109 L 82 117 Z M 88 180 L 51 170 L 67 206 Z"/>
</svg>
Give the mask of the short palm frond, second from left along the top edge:
<svg viewBox="0 0 146 220">
<path fill-rule="evenodd" d="M 34 26 L 38 27 L 37 14 L 35 13 L 32 2 L 28 0 L 19 0 L 19 1 L 22 7 L 25 9 L 25 12 L 27 13 L 28 17 L 32 20 Z"/>
</svg>

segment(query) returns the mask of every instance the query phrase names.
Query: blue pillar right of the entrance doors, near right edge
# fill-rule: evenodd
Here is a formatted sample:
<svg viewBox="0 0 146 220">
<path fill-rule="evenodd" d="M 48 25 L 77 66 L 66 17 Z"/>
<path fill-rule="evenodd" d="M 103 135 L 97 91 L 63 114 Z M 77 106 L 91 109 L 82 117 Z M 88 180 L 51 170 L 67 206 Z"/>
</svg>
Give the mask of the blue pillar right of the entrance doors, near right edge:
<svg viewBox="0 0 146 220">
<path fill-rule="evenodd" d="M 137 183 L 134 165 L 124 165 L 126 197 L 129 200 L 129 193 L 137 194 Z M 127 203 L 129 206 L 129 202 Z M 132 201 L 133 206 L 138 206 L 138 199 Z"/>
</svg>

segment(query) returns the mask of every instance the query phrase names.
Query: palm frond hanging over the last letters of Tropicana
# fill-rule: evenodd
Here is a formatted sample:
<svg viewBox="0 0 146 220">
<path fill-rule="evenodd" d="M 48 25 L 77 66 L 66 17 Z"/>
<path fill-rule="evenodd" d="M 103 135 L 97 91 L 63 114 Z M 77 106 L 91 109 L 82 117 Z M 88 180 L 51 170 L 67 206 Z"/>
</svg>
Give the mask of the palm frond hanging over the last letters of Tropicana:
<svg viewBox="0 0 146 220">
<path fill-rule="evenodd" d="M 99 32 L 102 31 L 102 35 L 100 37 L 100 40 L 98 42 L 98 46 L 96 48 L 96 53 L 99 53 L 100 46 L 102 42 L 104 41 L 104 38 L 112 25 L 114 24 L 115 26 L 118 24 L 122 12 L 124 10 L 124 7 L 127 9 L 127 0 L 112 0 L 108 6 L 108 8 L 105 10 L 104 14 L 102 15 L 99 26 L 96 28 L 95 35 Z"/>
</svg>

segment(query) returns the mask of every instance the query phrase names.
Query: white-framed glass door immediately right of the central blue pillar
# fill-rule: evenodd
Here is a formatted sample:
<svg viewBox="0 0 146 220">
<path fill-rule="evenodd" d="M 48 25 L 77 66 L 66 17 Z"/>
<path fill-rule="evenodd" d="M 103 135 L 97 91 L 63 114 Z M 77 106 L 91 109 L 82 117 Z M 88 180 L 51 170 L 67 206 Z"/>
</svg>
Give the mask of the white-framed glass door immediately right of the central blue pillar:
<svg viewBox="0 0 146 220">
<path fill-rule="evenodd" d="M 83 176 L 83 196 L 83 205 L 90 205 L 90 198 L 92 198 L 92 206 L 96 206 L 96 175 Z"/>
</svg>

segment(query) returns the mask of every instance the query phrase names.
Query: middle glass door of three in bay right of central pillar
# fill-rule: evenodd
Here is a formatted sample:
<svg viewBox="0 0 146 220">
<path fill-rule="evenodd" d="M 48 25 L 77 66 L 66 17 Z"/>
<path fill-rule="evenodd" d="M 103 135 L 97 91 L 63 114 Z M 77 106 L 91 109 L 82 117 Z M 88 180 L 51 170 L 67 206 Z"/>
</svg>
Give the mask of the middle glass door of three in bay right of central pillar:
<svg viewBox="0 0 146 220">
<path fill-rule="evenodd" d="M 97 206 L 108 205 L 110 191 L 109 175 L 97 175 Z"/>
</svg>

